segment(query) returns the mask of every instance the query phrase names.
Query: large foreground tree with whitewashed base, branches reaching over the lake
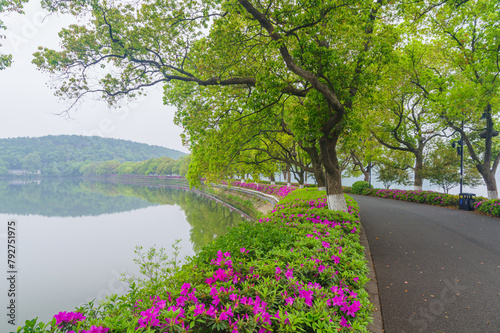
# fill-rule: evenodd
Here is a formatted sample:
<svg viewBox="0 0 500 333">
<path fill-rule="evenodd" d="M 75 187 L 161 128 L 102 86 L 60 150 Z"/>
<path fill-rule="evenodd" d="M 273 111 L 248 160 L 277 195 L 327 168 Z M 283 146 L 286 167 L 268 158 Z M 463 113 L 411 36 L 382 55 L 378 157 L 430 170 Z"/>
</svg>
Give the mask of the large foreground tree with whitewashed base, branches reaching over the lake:
<svg viewBox="0 0 500 333">
<path fill-rule="evenodd" d="M 250 94 L 257 110 L 279 96 L 304 98 L 319 142 L 330 209 L 346 209 L 336 145 L 394 42 L 393 13 L 380 1 L 48 1 L 91 24 L 60 33 L 62 51 L 35 63 L 60 75 L 58 94 L 78 101 L 100 93 L 110 103 L 174 80 L 200 96 L 227 101 Z M 167 89 L 168 93 L 168 89 Z M 237 105 L 238 99 L 232 101 Z M 353 117 L 354 118 L 354 117 Z"/>
</svg>

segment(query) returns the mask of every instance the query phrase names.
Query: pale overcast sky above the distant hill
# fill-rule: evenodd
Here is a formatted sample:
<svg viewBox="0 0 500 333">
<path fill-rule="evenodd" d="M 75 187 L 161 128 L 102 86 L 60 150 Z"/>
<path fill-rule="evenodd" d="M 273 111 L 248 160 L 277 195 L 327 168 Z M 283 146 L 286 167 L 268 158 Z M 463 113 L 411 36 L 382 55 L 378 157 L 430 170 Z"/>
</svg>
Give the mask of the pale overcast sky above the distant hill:
<svg viewBox="0 0 500 333">
<path fill-rule="evenodd" d="M 40 73 L 31 63 L 38 46 L 58 48 L 57 33 L 76 23 L 71 16 L 48 16 L 39 1 L 31 1 L 25 15 L 2 14 L 8 27 L 0 33 L 2 53 L 12 54 L 13 65 L 0 71 L 0 138 L 57 134 L 99 135 L 132 140 L 189 152 L 182 146 L 181 128 L 174 125 L 175 108 L 162 104 L 161 87 L 147 97 L 122 109 L 110 109 L 106 103 L 86 99 L 71 119 L 55 115 L 64 111 L 67 101 L 60 101 L 49 89 L 48 74 Z"/>
</svg>

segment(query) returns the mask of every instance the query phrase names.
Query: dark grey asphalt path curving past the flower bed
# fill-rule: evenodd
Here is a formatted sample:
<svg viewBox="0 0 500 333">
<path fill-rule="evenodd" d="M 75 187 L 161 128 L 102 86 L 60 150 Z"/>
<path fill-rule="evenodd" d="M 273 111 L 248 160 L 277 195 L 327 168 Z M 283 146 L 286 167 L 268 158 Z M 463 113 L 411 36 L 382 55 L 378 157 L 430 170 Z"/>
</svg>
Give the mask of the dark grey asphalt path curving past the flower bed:
<svg viewBox="0 0 500 333">
<path fill-rule="evenodd" d="M 353 195 L 387 333 L 500 333 L 500 219 Z"/>
</svg>

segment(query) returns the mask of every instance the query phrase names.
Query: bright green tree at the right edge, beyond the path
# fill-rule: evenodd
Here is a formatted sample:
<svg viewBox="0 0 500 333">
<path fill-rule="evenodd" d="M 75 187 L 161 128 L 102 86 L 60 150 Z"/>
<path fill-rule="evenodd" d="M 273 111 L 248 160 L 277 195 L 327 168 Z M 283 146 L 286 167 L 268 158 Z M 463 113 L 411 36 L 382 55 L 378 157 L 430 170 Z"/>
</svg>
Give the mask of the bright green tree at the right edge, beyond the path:
<svg viewBox="0 0 500 333">
<path fill-rule="evenodd" d="M 488 197 L 498 198 L 500 5 L 494 0 L 426 5 L 417 2 L 414 8 L 414 27 L 425 29 L 426 36 L 412 41 L 412 82 L 446 125 L 463 136 Z"/>
</svg>

